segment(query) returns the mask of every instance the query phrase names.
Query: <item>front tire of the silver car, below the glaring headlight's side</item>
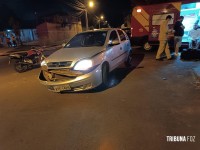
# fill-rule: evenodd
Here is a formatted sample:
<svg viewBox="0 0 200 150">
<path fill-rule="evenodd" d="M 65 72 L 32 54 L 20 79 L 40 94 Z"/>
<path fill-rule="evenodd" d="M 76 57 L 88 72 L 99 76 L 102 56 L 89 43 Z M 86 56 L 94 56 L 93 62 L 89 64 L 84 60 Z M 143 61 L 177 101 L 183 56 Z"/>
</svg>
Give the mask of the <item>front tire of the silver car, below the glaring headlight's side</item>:
<svg viewBox="0 0 200 150">
<path fill-rule="evenodd" d="M 107 88 L 109 85 L 109 67 L 108 64 L 102 65 L 102 86 Z"/>
</svg>

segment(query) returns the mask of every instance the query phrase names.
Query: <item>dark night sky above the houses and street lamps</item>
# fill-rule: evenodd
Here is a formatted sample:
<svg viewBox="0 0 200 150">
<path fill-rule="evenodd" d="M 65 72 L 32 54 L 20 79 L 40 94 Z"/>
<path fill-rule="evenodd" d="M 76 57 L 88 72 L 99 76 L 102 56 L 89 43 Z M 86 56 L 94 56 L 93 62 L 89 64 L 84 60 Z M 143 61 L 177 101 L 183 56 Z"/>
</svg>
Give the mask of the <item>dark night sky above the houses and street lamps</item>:
<svg viewBox="0 0 200 150">
<path fill-rule="evenodd" d="M 30 26 L 34 24 L 36 17 L 42 18 L 56 13 L 75 12 L 75 9 L 66 5 L 68 2 L 74 3 L 75 1 L 83 2 L 83 0 L 0 0 L 0 29 L 6 26 L 10 16 L 20 20 L 22 26 Z M 89 19 L 92 18 L 92 15 L 100 16 L 103 14 L 112 27 L 119 27 L 124 22 L 124 17 L 131 13 L 134 5 L 156 3 L 158 0 L 151 0 L 151 2 L 150 0 L 93 1 L 95 8 L 88 10 Z M 159 0 L 159 2 L 162 1 L 164 0 Z M 84 16 L 81 18 L 83 20 Z"/>
</svg>

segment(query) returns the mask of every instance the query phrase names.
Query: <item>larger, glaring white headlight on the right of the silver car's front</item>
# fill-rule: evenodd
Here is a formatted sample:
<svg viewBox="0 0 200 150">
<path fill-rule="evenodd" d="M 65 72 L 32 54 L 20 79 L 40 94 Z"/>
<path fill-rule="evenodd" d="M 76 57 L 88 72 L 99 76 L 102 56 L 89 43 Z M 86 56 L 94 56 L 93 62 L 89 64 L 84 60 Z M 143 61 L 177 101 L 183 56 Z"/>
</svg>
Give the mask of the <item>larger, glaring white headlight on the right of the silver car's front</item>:
<svg viewBox="0 0 200 150">
<path fill-rule="evenodd" d="M 92 66 L 93 66 L 92 60 L 84 59 L 76 63 L 76 65 L 74 66 L 74 70 L 86 71 L 90 69 Z"/>
</svg>

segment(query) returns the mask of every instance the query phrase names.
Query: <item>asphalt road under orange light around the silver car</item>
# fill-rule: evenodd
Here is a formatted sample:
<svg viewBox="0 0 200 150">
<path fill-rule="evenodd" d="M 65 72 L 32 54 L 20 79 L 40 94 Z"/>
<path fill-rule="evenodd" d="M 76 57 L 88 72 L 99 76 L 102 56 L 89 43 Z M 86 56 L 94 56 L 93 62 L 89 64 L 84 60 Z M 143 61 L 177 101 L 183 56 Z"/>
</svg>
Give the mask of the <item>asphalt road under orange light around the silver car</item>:
<svg viewBox="0 0 200 150">
<path fill-rule="evenodd" d="M 199 150 L 200 62 L 154 57 L 134 54 L 108 89 L 64 94 L 39 83 L 39 68 L 17 73 L 0 57 L 0 150 Z"/>
</svg>

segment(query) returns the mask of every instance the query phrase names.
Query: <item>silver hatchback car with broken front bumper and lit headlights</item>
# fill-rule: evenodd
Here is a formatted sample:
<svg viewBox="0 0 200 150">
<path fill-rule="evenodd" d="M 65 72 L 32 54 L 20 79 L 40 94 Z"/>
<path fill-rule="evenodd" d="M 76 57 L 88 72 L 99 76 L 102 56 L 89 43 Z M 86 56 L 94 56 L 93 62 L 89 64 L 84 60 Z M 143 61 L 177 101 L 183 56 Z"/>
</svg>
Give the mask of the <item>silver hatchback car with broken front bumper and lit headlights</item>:
<svg viewBox="0 0 200 150">
<path fill-rule="evenodd" d="M 39 80 L 54 92 L 106 87 L 109 73 L 131 60 L 130 40 L 121 29 L 82 32 L 41 63 Z"/>
</svg>

